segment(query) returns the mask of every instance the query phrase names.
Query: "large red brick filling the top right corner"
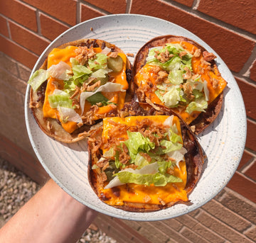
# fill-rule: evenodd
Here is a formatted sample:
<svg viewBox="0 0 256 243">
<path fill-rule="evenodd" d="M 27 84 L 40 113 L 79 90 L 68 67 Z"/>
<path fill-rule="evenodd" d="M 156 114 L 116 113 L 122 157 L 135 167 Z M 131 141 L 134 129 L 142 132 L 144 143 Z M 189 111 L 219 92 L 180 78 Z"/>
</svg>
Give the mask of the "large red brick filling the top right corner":
<svg viewBox="0 0 256 243">
<path fill-rule="evenodd" d="M 198 11 L 208 14 L 220 21 L 247 30 L 256 34 L 256 4 L 255 0 L 233 1 L 233 0 L 201 0 Z"/>
</svg>

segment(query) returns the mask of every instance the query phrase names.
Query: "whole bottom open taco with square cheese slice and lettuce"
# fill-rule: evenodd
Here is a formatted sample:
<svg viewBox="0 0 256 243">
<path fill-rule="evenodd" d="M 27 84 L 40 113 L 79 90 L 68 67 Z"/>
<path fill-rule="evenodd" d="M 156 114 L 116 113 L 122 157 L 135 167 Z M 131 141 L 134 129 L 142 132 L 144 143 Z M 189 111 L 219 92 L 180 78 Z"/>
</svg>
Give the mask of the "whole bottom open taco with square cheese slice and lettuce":
<svg viewBox="0 0 256 243">
<path fill-rule="evenodd" d="M 203 152 L 188 125 L 147 104 L 124 106 L 88 137 L 90 185 L 104 203 L 133 212 L 188 203 L 201 176 Z M 122 113 L 122 114 L 124 114 Z"/>
</svg>

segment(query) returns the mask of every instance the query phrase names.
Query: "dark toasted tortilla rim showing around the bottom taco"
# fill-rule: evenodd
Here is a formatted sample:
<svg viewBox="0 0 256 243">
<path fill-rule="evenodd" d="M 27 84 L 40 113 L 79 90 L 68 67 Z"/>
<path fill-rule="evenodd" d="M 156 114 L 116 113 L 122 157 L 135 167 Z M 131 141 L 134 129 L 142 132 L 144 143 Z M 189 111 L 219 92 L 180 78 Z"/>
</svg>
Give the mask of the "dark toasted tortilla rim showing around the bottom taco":
<svg viewBox="0 0 256 243">
<path fill-rule="evenodd" d="M 149 106 L 147 103 L 138 103 L 132 101 L 130 103 L 126 103 L 122 111 L 119 113 L 121 117 L 127 117 L 127 115 L 176 115 L 169 109 L 163 109 L 161 111 L 156 111 L 154 108 Z M 183 147 L 187 149 L 187 153 L 184 155 L 186 161 L 186 186 L 184 190 L 186 191 L 187 195 L 191 193 L 193 188 L 196 186 L 198 179 L 200 179 L 201 172 L 203 169 L 203 152 L 201 145 L 199 145 L 198 140 L 196 140 L 195 135 L 191 129 L 183 122 L 183 120 L 179 120 L 181 124 L 181 134 L 183 138 Z M 102 142 L 102 131 L 103 128 L 100 126 L 97 130 L 92 132 L 90 135 L 87 147 L 88 147 L 88 154 L 89 154 L 89 164 L 88 164 L 88 179 L 92 189 L 95 191 L 97 196 L 102 200 L 102 202 L 107 203 L 107 200 L 110 200 L 107 194 L 100 193 L 102 189 L 102 181 L 100 179 L 100 174 L 97 169 L 92 169 L 92 166 L 95 165 L 98 160 L 102 157 L 102 149 L 97 149 L 92 152 L 92 149 L 95 148 L 95 145 L 100 148 Z M 118 138 L 117 138 L 118 139 Z M 126 186 L 122 186 L 122 193 L 130 193 L 132 189 L 129 186 L 129 183 L 125 184 Z M 157 187 L 155 187 L 157 188 Z M 120 188 L 119 186 L 112 188 L 112 193 L 114 196 L 119 196 Z M 136 197 L 136 191 L 133 191 L 133 196 Z M 127 210 L 132 212 L 151 212 L 156 210 L 161 210 L 164 208 L 169 208 L 176 203 L 189 203 L 189 200 L 176 200 L 166 204 L 154 204 L 154 203 L 134 203 L 130 201 L 124 201 L 122 205 L 112 205 L 114 208 L 119 208 L 121 210 Z M 107 203 L 109 204 L 109 203 Z"/>
</svg>

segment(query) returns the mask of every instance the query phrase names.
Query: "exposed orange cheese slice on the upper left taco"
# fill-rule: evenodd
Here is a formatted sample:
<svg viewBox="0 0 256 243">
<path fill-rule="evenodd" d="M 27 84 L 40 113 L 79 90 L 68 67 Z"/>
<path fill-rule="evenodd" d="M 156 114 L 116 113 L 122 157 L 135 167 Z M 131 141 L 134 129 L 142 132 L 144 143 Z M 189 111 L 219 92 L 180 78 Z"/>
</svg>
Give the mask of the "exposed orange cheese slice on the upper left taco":
<svg viewBox="0 0 256 243">
<path fill-rule="evenodd" d="M 70 63 L 70 58 L 76 56 L 75 50 L 77 48 L 78 47 L 75 47 L 75 46 L 68 46 L 68 47 L 65 47 L 64 49 L 54 48 L 48 55 L 48 67 L 47 68 L 51 67 L 54 64 L 58 64 L 60 61 L 63 61 L 65 63 L 69 64 L 70 67 L 72 67 L 72 65 Z M 93 50 L 96 53 L 102 51 L 100 47 L 95 47 L 95 48 L 93 48 Z M 118 73 L 111 72 L 110 77 L 113 77 L 114 82 L 116 82 L 117 84 L 122 84 L 124 86 L 123 89 L 128 89 L 128 83 L 127 83 L 126 72 L 125 72 L 127 57 L 123 53 L 119 53 L 118 55 L 122 57 L 123 68 Z M 63 80 L 58 80 L 53 77 L 50 77 L 48 79 L 48 83 L 46 86 L 45 101 L 43 104 L 43 116 L 46 118 L 55 118 L 55 119 L 60 120 L 60 123 L 63 126 L 63 128 L 67 132 L 72 133 L 74 130 L 76 130 L 78 128 L 77 123 L 75 123 L 73 121 L 68 121 L 68 122 L 63 123 L 60 119 L 60 115 L 57 111 L 57 108 L 51 108 L 50 103 L 48 101 L 48 96 L 50 94 L 53 94 L 53 91 L 56 89 L 56 83 L 58 83 L 58 85 L 59 85 L 58 89 L 63 89 L 63 86 L 64 86 Z M 121 92 L 121 91 L 120 92 L 105 92 L 105 93 L 102 92 L 103 96 L 108 98 L 111 102 L 117 103 L 118 108 L 123 108 L 123 106 L 124 106 L 125 93 L 126 92 Z M 87 111 L 89 111 L 90 107 L 91 107 L 90 102 L 85 101 L 85 109 L 84 109 L 83 114 L 85 114 Z M 116 108 L 112 105 L 99 107 L 98 110 L 95 112 L 93 120 L 99 119 L 100 115 L 108 113 L 108 112 L 112 111 L 113 109 L 116 109 Z M 80 108 L 75 109 L 75 111 L 81 115 Z"/>
</svg>

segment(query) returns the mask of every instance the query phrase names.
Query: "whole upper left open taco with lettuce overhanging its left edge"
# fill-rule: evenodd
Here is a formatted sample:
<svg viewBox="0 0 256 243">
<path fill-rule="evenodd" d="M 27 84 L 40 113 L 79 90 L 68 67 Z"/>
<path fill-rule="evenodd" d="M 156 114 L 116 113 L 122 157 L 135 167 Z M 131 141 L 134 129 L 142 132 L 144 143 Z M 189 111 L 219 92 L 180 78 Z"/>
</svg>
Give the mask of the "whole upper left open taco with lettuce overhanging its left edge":
<svg viewBox="0 0 256 243">
<path fill-rule="evenodd" d="M 43 132 L 76 142 L 132 97 L 132 66 L 119 47 L 82 39 L 54 48 L 29 79 L 30 107 Z"/>
</svg>

